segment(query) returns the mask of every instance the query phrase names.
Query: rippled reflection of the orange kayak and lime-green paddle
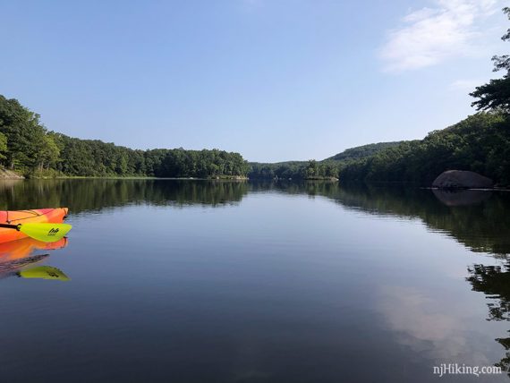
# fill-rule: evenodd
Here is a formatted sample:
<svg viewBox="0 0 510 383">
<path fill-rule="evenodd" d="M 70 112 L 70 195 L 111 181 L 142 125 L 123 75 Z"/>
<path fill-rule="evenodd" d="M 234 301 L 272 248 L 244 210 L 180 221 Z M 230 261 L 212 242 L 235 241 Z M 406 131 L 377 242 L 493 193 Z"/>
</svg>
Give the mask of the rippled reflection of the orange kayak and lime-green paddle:
<svg viewBox="0 0 510 383">
<path fill-rule="evenodd" d="M 36 251 L 55 251 L 67 245 L 67 238 L 55 243 L 44 243 L 32 238 L 23 238 L 10 243 L 0 243 L 0 278 L 22 277 L 30 279 L 70 280 L 64 272 L 51 266 L 35 266 L 49 254 L 32 255 Z M 35 266 L 35 267 L 34 267 Z"/>
</svg>

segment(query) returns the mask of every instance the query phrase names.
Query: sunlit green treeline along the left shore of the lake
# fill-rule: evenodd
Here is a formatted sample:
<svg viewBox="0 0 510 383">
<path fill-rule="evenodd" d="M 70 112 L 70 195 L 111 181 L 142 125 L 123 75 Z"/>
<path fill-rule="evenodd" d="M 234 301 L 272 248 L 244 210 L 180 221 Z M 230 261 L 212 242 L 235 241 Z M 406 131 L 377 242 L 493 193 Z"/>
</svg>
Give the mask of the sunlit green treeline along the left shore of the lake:
<svg viewBox="0 0 510 383">
<path fill-rule="evenodd" d="M 223 150 L 137 150 L 49 132 L 39 115 L 0 95 L 0 164 L 26 175 L 234 177 L 249 166 Z"/>
</svg>

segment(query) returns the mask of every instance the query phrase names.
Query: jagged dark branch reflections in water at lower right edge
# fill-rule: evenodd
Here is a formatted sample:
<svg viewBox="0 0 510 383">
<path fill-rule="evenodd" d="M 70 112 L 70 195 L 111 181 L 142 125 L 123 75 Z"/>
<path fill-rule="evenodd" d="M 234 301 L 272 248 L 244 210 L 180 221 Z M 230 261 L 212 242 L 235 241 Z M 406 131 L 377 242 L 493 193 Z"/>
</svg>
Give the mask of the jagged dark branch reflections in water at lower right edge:
<svg viewBox="0 0 510 383">
<path fill-rule="evenodd" d="M 466 279 L 472 284 L 472 290 L 487 295 L 490 300 L 488 320 L 510 320 L 510 263 L 503 266 L 473 265 L 468 271 L 470 277 Z M 496 365 L 510 376 L 510 337 L 496 341 L 505 349 L 505 356 Z"/>
</svg>

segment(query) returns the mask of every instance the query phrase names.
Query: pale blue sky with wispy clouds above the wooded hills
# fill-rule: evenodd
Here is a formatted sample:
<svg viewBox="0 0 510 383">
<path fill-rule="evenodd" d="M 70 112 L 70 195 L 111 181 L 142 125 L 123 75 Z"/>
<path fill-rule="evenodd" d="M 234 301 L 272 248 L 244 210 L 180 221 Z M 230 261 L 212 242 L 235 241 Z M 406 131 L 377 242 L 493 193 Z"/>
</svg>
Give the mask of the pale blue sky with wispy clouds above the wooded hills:
<svg viewBox="0 0 510 383">
<path fill-rule="evenodd" d="M 501 0 L 0 0 L 0 94 L 133 149 L 323 159 L 414 140 L 500 77 Z"/>
</svg>

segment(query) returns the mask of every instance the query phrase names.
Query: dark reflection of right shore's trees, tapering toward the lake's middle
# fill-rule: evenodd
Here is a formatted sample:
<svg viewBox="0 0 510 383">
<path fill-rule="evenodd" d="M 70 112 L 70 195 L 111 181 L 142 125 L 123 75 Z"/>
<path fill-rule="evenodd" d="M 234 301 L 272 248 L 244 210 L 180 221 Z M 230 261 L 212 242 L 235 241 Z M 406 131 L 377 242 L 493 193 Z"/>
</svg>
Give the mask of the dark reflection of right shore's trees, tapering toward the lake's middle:
<svg viewBox="0 0 510 383">
<path fill-rule="evenodd" d="M 339 183 L 273 183 L 259 189 L 306 193 L 335 200 L 345 209 L 380 217 L 420 218 L 472 251 L 510 253 L 510 192 L 436 192 L 401 186 Z M 480 195 L 480 193 L 484 193 Z M 441 200 L 438 199 L 438 194 Z"/>
</svg>

